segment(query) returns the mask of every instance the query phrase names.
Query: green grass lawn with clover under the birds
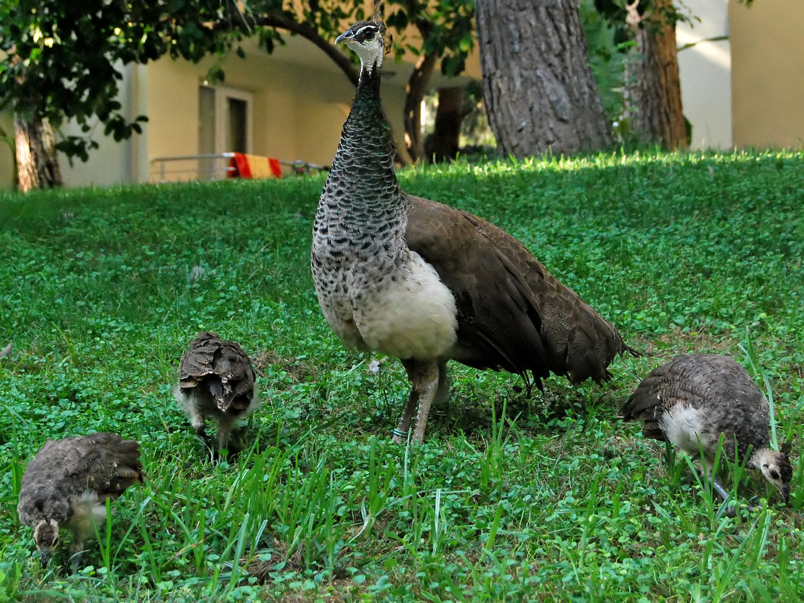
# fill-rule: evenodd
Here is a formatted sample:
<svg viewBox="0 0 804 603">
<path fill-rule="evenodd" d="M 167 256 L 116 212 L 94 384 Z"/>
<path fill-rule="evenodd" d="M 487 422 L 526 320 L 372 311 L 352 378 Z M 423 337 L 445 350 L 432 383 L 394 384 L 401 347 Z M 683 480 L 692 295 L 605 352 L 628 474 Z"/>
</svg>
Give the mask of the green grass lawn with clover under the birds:
<svg viewBox="0 0 804 603">
<path fill-rule="evenodd" d="M 617 409 L 652 367 L 720 351 L 773 389 L 802 441 L 804 154 L 642 154 L 408 170 L 412 193 L 507 229 L 641 359 L 613 380 L 453 365 L 421 446 L 390 443 L 396 359 L 344 349 L 310 279 L 322 178 L 0 198 L 0 601 L 798 601 L 792 508 L 740 475 L 719 513 L 683 455 Z M 170 394 L 197 330 L 256 359 L 265 404 L 214 465 Z M 750 342 L 749 342 L 750 335 Z M 753 348 L 751 347 L 753 346 Z M 761 374 L 759 374 L 761 373 Z M 150 476 L 112 504 L 80 572 L 47 572 L 15 515 L 46 437 L 142 442 Z M 724 460 L 725 462 L 725 460 Z M 727 482 L 733 490 L 733 484 Z M 768 502 L 769 501 L 769 502 Z M 68 539 L 68 538 L 66 538 Z"/>
</svg>

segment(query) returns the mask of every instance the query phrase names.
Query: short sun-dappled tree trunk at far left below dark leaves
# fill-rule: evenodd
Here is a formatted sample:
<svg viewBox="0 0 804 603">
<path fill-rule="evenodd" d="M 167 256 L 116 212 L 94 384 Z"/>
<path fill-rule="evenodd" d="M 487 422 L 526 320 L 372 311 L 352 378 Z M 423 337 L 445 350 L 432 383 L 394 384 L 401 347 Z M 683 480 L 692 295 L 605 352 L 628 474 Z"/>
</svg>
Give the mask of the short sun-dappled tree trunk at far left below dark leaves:
<svg viewBox="0 0 804 603">
<path fill-rule="evenodd" d="M 64 184 L 55 152 L 55 128 L 45 121 L 27 121 L 14 116 L 17 149 L 17 179 L 23 192 Z"/>
</svg>

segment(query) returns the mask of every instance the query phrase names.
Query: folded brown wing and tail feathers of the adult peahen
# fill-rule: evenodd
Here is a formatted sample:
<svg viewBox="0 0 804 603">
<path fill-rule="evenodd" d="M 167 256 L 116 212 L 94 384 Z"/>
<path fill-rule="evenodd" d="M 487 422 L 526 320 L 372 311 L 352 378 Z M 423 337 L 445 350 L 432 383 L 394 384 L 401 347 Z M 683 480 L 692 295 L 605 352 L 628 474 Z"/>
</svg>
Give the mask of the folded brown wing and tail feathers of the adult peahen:
<svg viewBox="0 0 804 603">
<path fill-rule="evenodd" d="M 573 384 L 609 379 L 606 367 L 630 348 L 523 244 L 466 211 L 411 200 L 408 247 L 433 265 L 455 296 L 454 359 L 520 375 L 531 371 L 539 386 L 548 371 Z"/>
</svg>

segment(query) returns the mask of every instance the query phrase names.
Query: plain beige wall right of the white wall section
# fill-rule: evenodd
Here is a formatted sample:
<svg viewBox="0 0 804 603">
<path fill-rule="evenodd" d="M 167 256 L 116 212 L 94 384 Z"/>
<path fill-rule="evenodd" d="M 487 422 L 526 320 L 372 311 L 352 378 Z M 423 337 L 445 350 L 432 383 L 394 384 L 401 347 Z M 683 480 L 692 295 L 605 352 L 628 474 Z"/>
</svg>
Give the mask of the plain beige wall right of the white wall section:
<svg viewBox="0 0 804 603">
<path fill-rule="evenodd" d="M 729 0 L 739 148 L 804 147 L 804 0 Z"/>
</svg>

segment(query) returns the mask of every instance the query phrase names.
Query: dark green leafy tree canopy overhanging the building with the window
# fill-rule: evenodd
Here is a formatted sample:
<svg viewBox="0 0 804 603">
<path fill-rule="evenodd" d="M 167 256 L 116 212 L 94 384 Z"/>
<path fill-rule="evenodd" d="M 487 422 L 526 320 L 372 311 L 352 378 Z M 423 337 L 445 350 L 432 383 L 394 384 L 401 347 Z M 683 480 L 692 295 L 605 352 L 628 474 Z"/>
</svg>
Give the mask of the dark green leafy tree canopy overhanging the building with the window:
<svg viewBox="0 0 804 603">
<path fill-rule="evenodd" d="M 142 132 L 147 121 L 121 113 L 121 64 L 164 55 L 198 61 L 251 35 L 270 52 L 283 43 L 281 31 L 316 44 L 356 85 L 354 57 L 332 42 L 347 23 L 366 18 L 363 6 L 363 0 L 0 0 L 0 110 L 55 129 L 75 119 L 84 136 L 61 137 L 56 148 L 85 161 L 98 146 L 89 135 L 93 117 L 116 141 Z M 418 106 L 437 59 L 444 58 L 447 75 L 463 71 L 474 43 L 474 0 L 388 0 L 387 9 L 396 58 L 406 52 L 422 57 L 410 86 L 409 104 Z M 420 43 L 409 39 L 408 25 L 416 27 Z M 224 77 L 222 71 L 212 75 Z"/>
</svg>

